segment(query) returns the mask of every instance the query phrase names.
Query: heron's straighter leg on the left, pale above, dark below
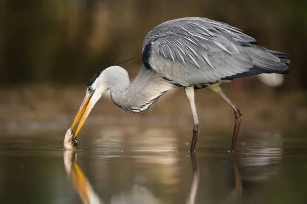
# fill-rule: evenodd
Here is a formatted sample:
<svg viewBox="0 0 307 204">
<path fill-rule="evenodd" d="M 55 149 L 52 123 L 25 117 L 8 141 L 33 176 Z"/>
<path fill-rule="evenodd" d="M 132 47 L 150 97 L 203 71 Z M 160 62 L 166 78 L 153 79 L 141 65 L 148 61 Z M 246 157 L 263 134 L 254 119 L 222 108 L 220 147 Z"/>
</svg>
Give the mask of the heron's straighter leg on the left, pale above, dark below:
<svg viewBox="0 0 307 204">
<path fill-rule="evenodd" d="M 201 125 L 200 125 L 200 122 L 199 122 L 199 119 L 196 113 L 196 107 L 195 107 L 195 102 L 194 102 L 194 86 L 191 85 L 190 87 L 184 88 L 184 90 L 190 100 L 190 105 L 191 105 L 192 114 L 193 114 L 193 121 L 194 121 L 193 137 L 192 137 L 191 146 L 190 146 L 190 152 L 193 152 L 195 150 L 197 138 L 200 134 Z"/>
</svg>

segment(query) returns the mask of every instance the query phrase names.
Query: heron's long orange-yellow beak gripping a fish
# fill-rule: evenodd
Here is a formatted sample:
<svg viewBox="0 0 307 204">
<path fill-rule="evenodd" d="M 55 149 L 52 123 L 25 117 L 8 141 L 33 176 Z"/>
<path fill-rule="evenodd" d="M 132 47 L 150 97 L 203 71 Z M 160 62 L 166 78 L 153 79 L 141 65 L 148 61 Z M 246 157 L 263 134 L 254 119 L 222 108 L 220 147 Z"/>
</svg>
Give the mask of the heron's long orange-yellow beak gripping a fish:
<svg viewBox="0 0 307 204">
<path fill-rule="evenodd" d="M 81 121 L 80 121 L 80 123 L 79 123 L 79 126 L 78 126 L 78 128 L 77 128 L 77 131 L 76 131 L 75 136 L 74 136 L 73 139 L 75 139 L 76 136 L 78 135 L 78 133 L 79 133 L 79 131 L 80 131 L 82 125 L 84 124 L 84 122 L 85 122 L 87 116 L 89 116 L 89 114 L 90 114 L 90 112 L 91 112 L 91 110 L 92 110 L 92 108 L 93 108 L 93 103 L 91 102 L 91 97 L 92 97 L 92 95 L 86 95 L 86 96 L 84 97 L 84 100 L 83 100 L 83 102 L 82 102 L 82 104 L 81 104 L 81 106 L 80 106 L 80 109 L 79 109 L 79 111 L 78 111 L 78 113 L 77 113 L 77 115 L 76 115 L 76 117 L 75 117 L 75 119 L 74 119 L 74 122 L 73 122 L 73 124 L 72 124 L 72 126 L 71 126 L 71 129 L 74 128 L 74 126 L 75 126 L 76 123 L 78 122 L 79 118 L 81 117 L 82 113 L 84 112 L 84 114 L 83 114 L 83 116 L 82 116 L 82 118 L 81 118 Z"/>
</svg>

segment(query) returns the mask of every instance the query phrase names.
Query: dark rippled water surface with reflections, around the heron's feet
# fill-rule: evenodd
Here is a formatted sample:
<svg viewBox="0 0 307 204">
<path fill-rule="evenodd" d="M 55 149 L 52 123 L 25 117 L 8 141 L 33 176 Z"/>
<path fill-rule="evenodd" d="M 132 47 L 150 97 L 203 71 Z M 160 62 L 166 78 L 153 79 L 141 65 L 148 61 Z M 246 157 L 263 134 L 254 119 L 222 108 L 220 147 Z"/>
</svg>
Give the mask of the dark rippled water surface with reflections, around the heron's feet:
<svg viewBox="0 0 307 204">
<path fill-rule="evenodd" d="M 62 150 L 66 130 L 0 137 L 0 203 L 307 203 L 305 131 L 108 126 Z"/>
</svg>

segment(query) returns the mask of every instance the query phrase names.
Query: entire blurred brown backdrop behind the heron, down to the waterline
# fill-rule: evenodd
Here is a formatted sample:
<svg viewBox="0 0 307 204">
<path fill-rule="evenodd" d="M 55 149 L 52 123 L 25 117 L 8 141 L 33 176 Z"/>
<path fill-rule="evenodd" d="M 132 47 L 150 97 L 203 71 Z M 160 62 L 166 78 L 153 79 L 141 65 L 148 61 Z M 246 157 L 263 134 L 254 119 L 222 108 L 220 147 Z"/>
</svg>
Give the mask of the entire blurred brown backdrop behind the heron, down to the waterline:
<svg viewBox="0 0 307 204">
<path fill-rule="evenodd" d="M 305 125 L 306 7 L 306 1 L 286 0 L 2 0 L 0 130 L 24 130 L 26 134 L 27 130 L 69 127 L 95 73 L 136 57 L 122 64 L 133 80 L 142 66 L 146 34 L 164 21 L 186 16 L 226 22 L 255 38 L 259 45 L 290 54 L 290 74 L 222 85 L 242 109 L 243 127 Z M 232 128 L 233 112 L 217 94 L 197 91 L 196 107 L 201 124 Z M 166 94 L 147 115 L 123 113 L 105 97 L 86 123 L 144 125 L 146 119 L 153 125 L 191 127 L 183 90 Z"/>
</svg>

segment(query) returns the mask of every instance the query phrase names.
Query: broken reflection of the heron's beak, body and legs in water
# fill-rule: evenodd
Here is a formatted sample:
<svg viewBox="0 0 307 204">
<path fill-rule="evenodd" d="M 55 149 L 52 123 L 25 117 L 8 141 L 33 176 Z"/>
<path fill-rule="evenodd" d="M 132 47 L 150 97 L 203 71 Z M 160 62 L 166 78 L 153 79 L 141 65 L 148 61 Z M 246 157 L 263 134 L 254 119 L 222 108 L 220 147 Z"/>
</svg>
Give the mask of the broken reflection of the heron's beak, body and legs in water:
<svg viewBox="0 0 307 204">
<path fill-rule="evenodd" d="M 190 153 L 191 163 L 192 163 L 192 172 L 193 180 L 190 188 L 189 197 L 186 203 L 193 204 L 198 192 L 199 182 L 200 182 L 200 168 L 196 161 L 194 152 Z M 64 151 L 64 168 L 67 174 L 72 179 L 72 184 L 79 193 L 83 203 L 103 203 L 100 197 L 95 193 L 91 183 L 83 173 L 82 169 L 76 163 L 77 152 L 66 150 Z M 231 154 L 232 165 L 234 170 L 234 180 L 235 186 L 231 193 L 229 193 L 225 200 L 222 203 L 229 203 L 236 199 L 240 199 L 242 196 L 242 180 L 239 173 L 235 156 Z M 135 194 L 135 195 L 133 195 Z M 131 203 L 163 203 L 158 198 L 153 196 L 147 189 L 141 189 L 134 191 L 131 195 L 124 195 L 124 198 L 121 199 L 111 199 L 111 203 L 128 203 L 127 200 L 132 201 Z M 121 202 L 125 200 L 125 202 Z"/>
</svg>

